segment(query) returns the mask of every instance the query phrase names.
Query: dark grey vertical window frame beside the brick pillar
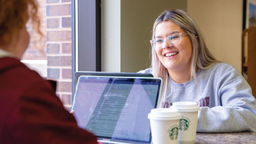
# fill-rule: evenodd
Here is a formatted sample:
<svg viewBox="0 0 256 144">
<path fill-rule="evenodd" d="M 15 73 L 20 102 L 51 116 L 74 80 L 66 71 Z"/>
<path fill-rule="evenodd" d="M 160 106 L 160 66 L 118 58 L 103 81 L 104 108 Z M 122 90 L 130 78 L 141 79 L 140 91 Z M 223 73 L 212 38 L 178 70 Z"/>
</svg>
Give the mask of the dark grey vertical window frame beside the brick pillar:
<svg viewBox="0 0 256 144">
<path fill-rule="evenodd" d="M 101 0 L 71 0 L 72 101 L 76 71 L 101 71 Z"/>
</svg>

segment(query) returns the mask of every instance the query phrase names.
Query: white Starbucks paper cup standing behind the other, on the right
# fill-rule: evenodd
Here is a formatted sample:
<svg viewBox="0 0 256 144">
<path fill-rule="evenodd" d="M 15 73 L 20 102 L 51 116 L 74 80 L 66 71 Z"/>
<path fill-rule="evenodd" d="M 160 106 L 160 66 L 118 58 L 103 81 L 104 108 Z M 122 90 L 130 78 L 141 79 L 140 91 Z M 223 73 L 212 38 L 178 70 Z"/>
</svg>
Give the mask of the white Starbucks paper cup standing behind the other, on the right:
<svg viewBox="0 0 256 144">
<path fill-rule="evenodd" d="M 194 144 L 199 107 L 195 102 L 174 102 L 171 109 L 178 109 L 180 119 L 178 144 Z"/>
</svg>

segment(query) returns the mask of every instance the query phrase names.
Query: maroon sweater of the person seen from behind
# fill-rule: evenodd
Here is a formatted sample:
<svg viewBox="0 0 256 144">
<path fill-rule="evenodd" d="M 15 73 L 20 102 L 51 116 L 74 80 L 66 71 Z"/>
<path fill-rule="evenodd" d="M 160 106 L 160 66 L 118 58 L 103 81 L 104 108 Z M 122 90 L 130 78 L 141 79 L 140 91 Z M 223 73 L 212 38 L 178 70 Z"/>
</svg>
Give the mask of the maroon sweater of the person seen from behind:
<svg viewBox="0 0 256 144">
<path fill-rule="evenodd" d="M 96 144 L 64 109 L 49 81 L 19 60 L 0 58 L 0 144 Z"/>
</svg>

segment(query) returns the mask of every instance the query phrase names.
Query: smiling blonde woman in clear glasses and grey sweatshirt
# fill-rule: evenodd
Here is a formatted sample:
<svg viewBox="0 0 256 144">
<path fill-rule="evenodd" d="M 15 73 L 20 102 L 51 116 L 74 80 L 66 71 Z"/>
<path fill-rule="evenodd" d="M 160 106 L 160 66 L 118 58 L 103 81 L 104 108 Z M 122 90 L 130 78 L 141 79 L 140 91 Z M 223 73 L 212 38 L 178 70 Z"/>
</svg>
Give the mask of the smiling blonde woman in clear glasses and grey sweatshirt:
<svg viewBox="0 0 256 144">
<path fill-rule="evenodd" d="M 153 26 L 151 68 L 162 78 L 160 107 L 197 102 L 197 132 L 256 132 L 256 100 L 243 76 L 218 62 L 194 20 L 182 10 L 164 11 Z"/>
</svg>

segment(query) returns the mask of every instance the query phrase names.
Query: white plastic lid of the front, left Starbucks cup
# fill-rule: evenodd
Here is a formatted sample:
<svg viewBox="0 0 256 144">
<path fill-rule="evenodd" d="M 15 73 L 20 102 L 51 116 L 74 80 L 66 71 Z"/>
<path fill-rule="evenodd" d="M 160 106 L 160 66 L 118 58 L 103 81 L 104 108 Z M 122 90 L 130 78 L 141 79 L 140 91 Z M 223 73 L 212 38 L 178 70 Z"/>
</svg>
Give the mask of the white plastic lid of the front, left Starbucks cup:
<svg viewBox="0 0 256 144">
<path fill-rule="evenodd" d="M 180 119 L 181 114 L 177 109 L 155 108 L 148 114 L 148 118 L 157 120 L 174 120 Z"/>
</svg>

